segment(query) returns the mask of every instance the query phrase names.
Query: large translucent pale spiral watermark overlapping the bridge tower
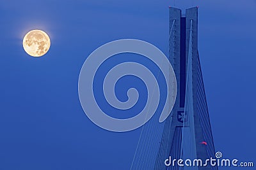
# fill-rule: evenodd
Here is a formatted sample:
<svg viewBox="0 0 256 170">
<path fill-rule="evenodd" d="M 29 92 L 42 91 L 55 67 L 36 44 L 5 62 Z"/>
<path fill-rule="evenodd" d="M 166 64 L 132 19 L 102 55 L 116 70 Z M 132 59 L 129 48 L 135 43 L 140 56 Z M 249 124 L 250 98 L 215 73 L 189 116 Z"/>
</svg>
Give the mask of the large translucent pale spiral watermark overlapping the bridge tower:
<svg viewBox="0 0 256 170">
<path fill-rule="evenodd" d="M 166 100 L 163 104 L 163 110 L 159 122 L 163 122 L 171 113 L 176 95 L 177 95 L 177 82 L 175 73 L 172 65 L 168 58 L 164 55 L 161 50 L 156 46 L 141 41 L 138 39 L 120 39 L 111 41 L 105 45 L 100 46 L 92 52 L 85 60 L 83 67 L 81 68 L 78 81 L 78 94 L 81 106 L 84 113 L 90 120 L 99 127 L 108 131 L 125 132 L 132 131 L 141 125 L 145 124 L 154 115 L 159 106 L 160 101 L 160 89 L 159 80 L 157 74 L 152 73 L 151 68 L 144 66 L 140 61 L 127 61 L 118 63 L 116 66 L 108 70 L 105 74 L 102 84 L 98 83 L 95 85 L 97 71 L 99 72 L 100 67 L 117 54 L 120 53 L 135 53 L 146 57 L 148 61 L 154 63 L 161 74 L 163 74 L 164 80 L 166 81 Z M 139 93 L 137 89 L 130 88 L 127 90 L 127 101 L 120 101 L 115 94 L 115 85 L 118 80 L 124 76 L 136 76 L 145 83 L 147 87 L 147 103 L 143 110 L 138 115 L 131 118 L 114 118 L 108 115 L 104 107 L 111 106 L 115 108 L 115 111 L 120 111 L 122 114 L 123 110 L 129 110 L 136 105 L 139 99 Z M 100 81 L 101 82 L 101 81 Z M 162 84 L 162 83 L 160 83 Z M 95 89 L 95 87 L 100 87 Z M 95 93 L 102 90 L 102 96 L 100 101 L 106 101 L 107 104 L 99 106 L 97 102 L 97 96 Z M 97 91 L 98 90 L 98 91 Z M 163 92 L 163 91 L 161 91 Z M 163 97 L 161 97 L 162 99 Z M 103 107 L 103 108 L 102 108 Z"/>
</svg>

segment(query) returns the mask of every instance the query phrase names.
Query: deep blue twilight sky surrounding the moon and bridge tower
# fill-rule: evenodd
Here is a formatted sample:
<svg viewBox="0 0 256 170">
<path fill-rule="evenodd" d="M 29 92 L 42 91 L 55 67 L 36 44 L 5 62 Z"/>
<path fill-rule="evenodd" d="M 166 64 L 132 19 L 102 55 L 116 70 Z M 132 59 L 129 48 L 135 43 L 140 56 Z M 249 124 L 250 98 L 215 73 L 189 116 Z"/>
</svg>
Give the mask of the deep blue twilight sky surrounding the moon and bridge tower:
<svg viewBox="0 0 256 170">
<path fill-rule="evenodd" d="M 79 103 L 79 71 L 93 50 L 116 39 L 142 39 L 166 53 L 173 4 L 1 0 L 0 169 L 129 169 L 141 129 L 116 133 L 94 125 Z M 199 6 L 198 50 L 216 151 L 256 164 L 256 1 L 175 5 Z M 31 29 L 51 38 L 44 57 L 22 49 Z"/>
</svg>

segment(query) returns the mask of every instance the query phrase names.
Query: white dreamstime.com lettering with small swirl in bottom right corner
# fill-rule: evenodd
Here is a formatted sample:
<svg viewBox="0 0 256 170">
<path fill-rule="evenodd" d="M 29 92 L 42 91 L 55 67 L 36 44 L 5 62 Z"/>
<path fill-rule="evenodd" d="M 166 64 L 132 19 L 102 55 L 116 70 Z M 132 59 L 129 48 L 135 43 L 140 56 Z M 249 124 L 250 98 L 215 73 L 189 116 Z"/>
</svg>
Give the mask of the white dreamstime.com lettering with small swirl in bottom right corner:
<svg viewBox="0 0 256 170">
<path fill-rule="evenodd" d="M 237 159 L 221 159 L 223 157 L 221 152 L 216 152 L 216 158 L 210 159 L 172 159 L 170 156 L 164 160 L 165 166 L 179 166 L 179 167 L 192 167 L 192 166 L 225 166 L 225 167 L 253 167 L 253 162 L 239 162 Z"/>
</svg>

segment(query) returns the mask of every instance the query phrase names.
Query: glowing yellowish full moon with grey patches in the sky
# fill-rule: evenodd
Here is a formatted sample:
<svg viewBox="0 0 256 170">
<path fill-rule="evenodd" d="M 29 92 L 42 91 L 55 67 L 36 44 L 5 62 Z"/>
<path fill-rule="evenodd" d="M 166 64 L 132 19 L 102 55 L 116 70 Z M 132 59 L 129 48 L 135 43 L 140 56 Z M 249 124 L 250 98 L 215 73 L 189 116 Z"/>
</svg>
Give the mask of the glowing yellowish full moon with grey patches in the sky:
<svg viewBox="0 0 256 170">
<path fill-rule="evenodd" d="M 51 46 L 49 36 L 41 30 L 29 31 L 23 39 L 23 48 L 26 53 L 33 57 L 41 57 L 48 52 Z"/>
</svg>

